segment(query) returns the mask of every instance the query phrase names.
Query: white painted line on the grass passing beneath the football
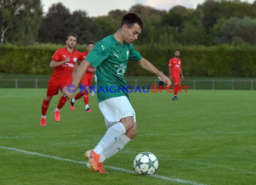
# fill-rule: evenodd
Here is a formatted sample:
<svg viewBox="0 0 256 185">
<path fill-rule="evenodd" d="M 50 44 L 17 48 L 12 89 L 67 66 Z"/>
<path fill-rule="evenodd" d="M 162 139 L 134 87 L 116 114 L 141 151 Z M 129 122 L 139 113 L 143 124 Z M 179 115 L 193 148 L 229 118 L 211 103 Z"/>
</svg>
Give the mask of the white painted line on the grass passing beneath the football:
<svg viewBox="0 0 256 185">
<path fill-rule="evenodd" d="M 6 150 L 14 150 L 17 152 L 22 152 L 24 154 L 29 154 L 29 155 L 37 155 L 40 157 L 46 157 L 46 158 L 50 158 L 50 159 L 56 159 L 58 161 L 67 161 L 67 162 L 71 162 L 71 163 L 79 163 L 79 164 L 84 164 L 86 165 L 85 161 L 78 161 L 78 160 L 73 160 L 73 159 L 65 159 L 65 158 L 61 158 L 58 156 L 51 156 L 48 154 L 40 154 L 37 152 L 31 152 L 31 151 L 26 151 L 26 150 L 20 150 L 18 148 L 13 148 L 13 147 L 6 147 L 6 146 L 0 146 L 1 149 L 6 149 Z M 113 170 L 117 170 L 117 171 L 121 171 L 121 172 L 128 172 L 128 173 L 136 173 L 134 171 L 131 170 L 127 170 L 124 168 L 120 168 L 120 167 L 112 167 L 112 166 L 105 166 L 108 169 L 113 169 Z M 188 181 L 188 180 L 183 180 L 183 179 L 178 179 L 178 178 L 171 178 L 171 177 L 167 177 L 167 176 L 160 176 L 160 175 L 151 175 L 150 177 L 155 177 L 155 178 L 159 178 L 159 179 L 163 179 L 163 180 L 167 180 L 167 181 L 172 181 L 172 182 L 178 182 L 181 184 L 190 184 L 190 185 L 207 185 L 207 184 L 202 184 L 199 182 L 194 182 L 194 181 Z"/>
</svg>

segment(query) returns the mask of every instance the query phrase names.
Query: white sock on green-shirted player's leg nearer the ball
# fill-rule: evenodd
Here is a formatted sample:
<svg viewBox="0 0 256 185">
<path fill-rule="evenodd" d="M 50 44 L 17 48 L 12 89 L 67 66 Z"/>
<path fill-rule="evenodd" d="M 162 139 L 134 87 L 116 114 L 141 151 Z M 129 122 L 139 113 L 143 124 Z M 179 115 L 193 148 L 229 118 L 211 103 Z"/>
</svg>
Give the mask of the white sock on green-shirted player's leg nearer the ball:
<svg viewBox="0 0 256 185">
<path fill-rule="evenodd" d="M 116 143 L 114 143 L 113 145 L 111 145 L 110 147 L 103 151 L 99 162 L 104 162 L 105 159 L 109 159 L 110 157 L 118 153 L 120 150 L 124 148 L 124 145 L 126 145 L 129 141 L 131 141 L 131 139 L 127 137 L 125 134 L 123 134 L 119 138 L 119 140 L 116 141 Z"/>
</svg>

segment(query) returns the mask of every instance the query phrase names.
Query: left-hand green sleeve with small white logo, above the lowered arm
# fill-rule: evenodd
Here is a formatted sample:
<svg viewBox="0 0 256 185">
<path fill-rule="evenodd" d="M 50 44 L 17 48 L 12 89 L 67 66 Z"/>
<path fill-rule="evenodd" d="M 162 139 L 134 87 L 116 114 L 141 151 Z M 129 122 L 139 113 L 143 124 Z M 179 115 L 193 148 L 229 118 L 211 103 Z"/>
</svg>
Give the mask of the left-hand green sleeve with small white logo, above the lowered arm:
<svg viewBox="0 0 256 185">
<path fill-rule="evenodd" d="M 99 41 L 87 55 L 86 61 L 88 61 L 93 68 L 96 68 L 109 57 L 109 50 L 110 48 L 106 42 Z"/>
</svg>

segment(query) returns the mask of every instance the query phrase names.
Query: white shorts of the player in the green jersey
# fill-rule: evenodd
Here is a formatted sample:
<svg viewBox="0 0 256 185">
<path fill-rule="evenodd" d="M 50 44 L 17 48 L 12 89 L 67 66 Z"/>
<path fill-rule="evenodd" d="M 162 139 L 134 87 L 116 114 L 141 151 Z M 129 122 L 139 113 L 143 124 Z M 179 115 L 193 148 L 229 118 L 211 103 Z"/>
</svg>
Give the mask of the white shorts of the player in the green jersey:
<svg viewBox="0 0 256 185">
<path fill-rule="evenodd" d="M 110 128 L 122 118 L 133 116 L 136 122 L 135 111 L 126 96 L 112 97 L 99 102 L 99 108 L 105 118 L 106 128 Z"/>
</svg>

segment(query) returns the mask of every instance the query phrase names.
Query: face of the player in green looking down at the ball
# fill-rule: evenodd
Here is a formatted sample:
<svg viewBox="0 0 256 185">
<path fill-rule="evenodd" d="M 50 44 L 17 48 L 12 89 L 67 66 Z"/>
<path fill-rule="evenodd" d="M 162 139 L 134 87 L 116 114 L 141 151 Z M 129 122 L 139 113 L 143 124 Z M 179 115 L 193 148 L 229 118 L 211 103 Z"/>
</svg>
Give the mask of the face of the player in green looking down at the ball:
<svg viewBox="0 0 256 185">
<path fill-rule="evenodd" d="M 124 41 L 128 44 L 138 39 L 138 35 L 141 33 L 141 26 L 135 23 L 132 27 L 128 28 L 127 25 L 123 26 L 124 29 Z"/>
</svg>

